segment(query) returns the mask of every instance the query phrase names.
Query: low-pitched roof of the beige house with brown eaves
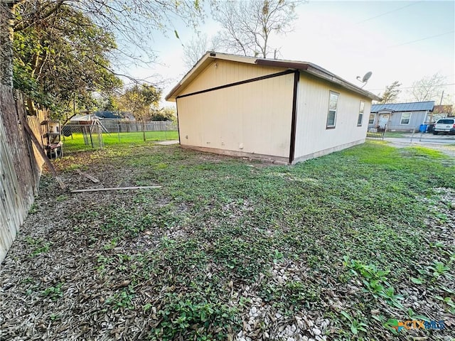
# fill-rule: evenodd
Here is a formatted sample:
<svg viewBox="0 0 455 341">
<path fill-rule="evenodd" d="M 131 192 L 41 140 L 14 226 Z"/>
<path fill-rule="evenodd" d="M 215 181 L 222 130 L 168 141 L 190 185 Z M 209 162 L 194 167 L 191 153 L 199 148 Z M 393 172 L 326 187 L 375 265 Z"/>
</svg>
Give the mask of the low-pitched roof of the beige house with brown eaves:
<svg viewBox="0 0 455 341">
<path fill-rule="evenodd" d="M 347 80 L 343 80 L 343 78 L 333 74 L 332 72 L 320 67 L 319 65 L 308 63 L 308 62 L 300 62 L 296 60 L 275 60 L 275 59 L 267 59 L 267 58 L 255 58 L 255 57 L 247 57 L 243 55 L 231 55 L 228 53 L 218 53 L 213 51 L 208 51 L 205 55 L 198 60 L 198 63 L 193 66 L 193 68 L 188 71 L 188 73 L 183 77 L 183 79 L 178 82 L 178 84 L 173 87 L 171 92 L 169 92 L 165 99 L 168 100 L 176 100 L 178 94 L 183 90 L 190 82 L 192 82 L 197 75 L 202 72 L 205 67 L 211 63 L 212 60 L 230 60 L 235 61 L 237 63 L 247 63 L 252 65 L 262 65 L 262 66 L 271 66 L 271 67 L 283 67 L 284 70 L 299 70 L 301 72 L 306 72 L 316 77 L 322 78 L 323 80 L 327 80 L 328 82 L 334 83 L 336 85 L 340 85 L 345 89 L 350 91 L 356 92 L 361 94 L 365 97 L 370 99 L 374 99 L 376 101 L 380 100 L 380 97 L 377 95 L 368 92 L 367 90 L 363 90 L 361 87 L 354 85 Z"/>
</svg>

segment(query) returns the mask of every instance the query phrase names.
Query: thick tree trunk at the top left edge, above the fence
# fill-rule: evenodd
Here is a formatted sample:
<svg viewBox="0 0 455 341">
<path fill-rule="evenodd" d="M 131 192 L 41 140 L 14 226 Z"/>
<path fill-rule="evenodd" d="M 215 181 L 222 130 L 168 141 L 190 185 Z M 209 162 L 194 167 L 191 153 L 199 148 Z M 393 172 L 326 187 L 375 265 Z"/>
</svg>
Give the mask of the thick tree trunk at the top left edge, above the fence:
<svg viewBox="0 0 455 341">
<path fill-rule="evenodd" d="M 13 88 L 13 7 L 16 1 L 0 1 L 0 84 Z"/>
</svg>

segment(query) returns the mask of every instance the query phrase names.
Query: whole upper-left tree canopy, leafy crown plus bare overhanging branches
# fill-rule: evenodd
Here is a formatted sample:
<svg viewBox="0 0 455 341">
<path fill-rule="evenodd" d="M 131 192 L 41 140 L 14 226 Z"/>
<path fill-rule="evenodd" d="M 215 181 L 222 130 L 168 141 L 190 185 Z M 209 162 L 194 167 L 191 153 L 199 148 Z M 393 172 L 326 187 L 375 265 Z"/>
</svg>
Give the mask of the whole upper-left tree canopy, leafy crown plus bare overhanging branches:
<svg viewBox="0 0 455 341">
<path fill-rule="evenodd" d="M 154 60 L 144 36 L 176 18 L 195 26 L 200 14 L 198 0 L 0 1 L 1 84 L 25 92 L 31 112 L 38 104 L 61 114 L 71 99 L 118 87 L 132 63 Z"/>
</svg>

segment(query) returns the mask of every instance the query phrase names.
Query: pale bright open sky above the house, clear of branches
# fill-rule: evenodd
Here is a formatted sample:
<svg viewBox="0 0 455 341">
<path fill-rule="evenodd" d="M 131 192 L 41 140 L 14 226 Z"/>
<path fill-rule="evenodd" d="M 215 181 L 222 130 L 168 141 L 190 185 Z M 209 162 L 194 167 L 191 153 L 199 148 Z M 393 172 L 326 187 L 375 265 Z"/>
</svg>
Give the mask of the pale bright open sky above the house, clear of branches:
<svg viewBox="0 0 455 341">
<path fill-rule="evenodd" d="M 296 13 L 294 31 L 270 42 L 280 59 L 317 64 L 359 86 L 355 78 L 372 71 L 364 88 L 375 94 L 398 80 L 402 102 L 410 99 L 412 82 L 439 72 L 446 77 L 444 102 L 455 104 L 455 1 L 309 1 Z M 160 64 L 130 70 L 151 82 L 161 75 L 164 95 L 188 72 L 182 44 L 196 34 L 182 23 L 173 26 L 180 40 L 172 32 L 151 40 Z M 210 37 L 219 26 L 207 18 L 198 30 Z"/>
</svg>

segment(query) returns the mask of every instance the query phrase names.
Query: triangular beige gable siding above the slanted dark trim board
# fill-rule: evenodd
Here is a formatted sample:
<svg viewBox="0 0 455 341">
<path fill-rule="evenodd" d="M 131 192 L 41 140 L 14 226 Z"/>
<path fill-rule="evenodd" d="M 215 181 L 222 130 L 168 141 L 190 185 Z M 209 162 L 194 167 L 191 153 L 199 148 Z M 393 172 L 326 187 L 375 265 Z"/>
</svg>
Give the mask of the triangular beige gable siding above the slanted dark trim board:
<svg viewBox="0 0 455 341">
<path fill-rule="evenodd" d="M 265 67 L 256 64 L 232 62 L 230 60 L 216 59 L 210 63 L 203 72 L 200 72 L 187 87 L 180 91 L 179 96 L 191 94 L 202 90 L 220 87 L 242 80 L 282 72 L 282 67 Z"/>
</svg>

